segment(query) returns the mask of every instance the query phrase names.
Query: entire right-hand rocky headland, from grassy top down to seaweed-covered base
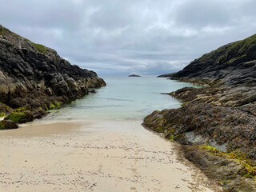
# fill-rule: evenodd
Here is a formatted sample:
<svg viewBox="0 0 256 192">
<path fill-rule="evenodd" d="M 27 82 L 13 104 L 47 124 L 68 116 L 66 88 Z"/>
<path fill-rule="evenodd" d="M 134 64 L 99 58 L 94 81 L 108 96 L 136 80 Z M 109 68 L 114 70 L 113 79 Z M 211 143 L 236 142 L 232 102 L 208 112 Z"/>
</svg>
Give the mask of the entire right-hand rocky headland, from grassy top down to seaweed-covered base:
<svg viewBox="0 0 256 192">
<path fill-rule="evenodd" d="M 185 157 L 225 191 L 256 191 L 256 34 L 170 78 L 202 88 L 170 93 L 182 107 L 154 111 L 143 125 L 182 144 Z"/>
</svg>

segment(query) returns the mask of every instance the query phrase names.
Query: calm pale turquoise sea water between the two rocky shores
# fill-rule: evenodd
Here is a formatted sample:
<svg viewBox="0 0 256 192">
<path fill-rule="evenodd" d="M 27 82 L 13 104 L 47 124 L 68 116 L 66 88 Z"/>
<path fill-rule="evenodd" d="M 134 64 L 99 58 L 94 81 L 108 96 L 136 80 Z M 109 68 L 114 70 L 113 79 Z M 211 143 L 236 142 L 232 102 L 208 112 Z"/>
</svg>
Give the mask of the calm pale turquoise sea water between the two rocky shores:
<svg viewBox="0 0 256 192">
<path fill-rule="evenodd" d="M 66 105 L 51 110 L 46 119 L 142 120 L 154 110 L 178 108 L 180 102 L 166 94 L 184 86 L 166 78 L 102 77 L 107 86 Z"/>
</svg>

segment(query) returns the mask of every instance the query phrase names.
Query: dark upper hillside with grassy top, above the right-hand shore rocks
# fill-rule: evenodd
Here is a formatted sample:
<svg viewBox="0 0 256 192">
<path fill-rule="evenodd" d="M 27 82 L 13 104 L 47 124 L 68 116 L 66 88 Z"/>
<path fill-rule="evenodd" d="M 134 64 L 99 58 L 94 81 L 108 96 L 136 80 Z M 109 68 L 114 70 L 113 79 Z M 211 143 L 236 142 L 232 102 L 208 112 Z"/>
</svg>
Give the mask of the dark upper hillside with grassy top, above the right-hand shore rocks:
<svg viewBox="0 0 256 192">
<path fill-rule="evenodd" d="M 222 79 L 226 84 L 255 83 L 256 34 L 204 54 L 172 77 Z"/>
</svg>

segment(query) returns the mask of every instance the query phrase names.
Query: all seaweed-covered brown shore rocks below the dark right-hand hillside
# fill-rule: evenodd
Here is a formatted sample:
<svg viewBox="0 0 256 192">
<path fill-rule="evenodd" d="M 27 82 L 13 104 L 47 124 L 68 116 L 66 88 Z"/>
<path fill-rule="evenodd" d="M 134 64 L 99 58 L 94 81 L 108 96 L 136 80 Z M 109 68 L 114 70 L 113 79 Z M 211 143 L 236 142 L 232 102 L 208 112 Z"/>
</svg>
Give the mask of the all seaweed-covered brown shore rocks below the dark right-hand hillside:
<svg viewBox="0 0 256 192">
<path fill-rule="evenodd" d="M 256 190 L 254 101 L 250 95 L 246 103 L 240 99 L 241 94 L 250 93 L 250 86 L 204 78 L 176 80 L 202 87 L 171 92 L 170 96 L 183 102 L 182 107 L 155 110 L 142 125 L 178 142 L 184 157 L 224 191 Z"/>
</svg>

